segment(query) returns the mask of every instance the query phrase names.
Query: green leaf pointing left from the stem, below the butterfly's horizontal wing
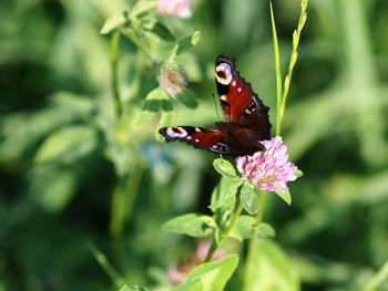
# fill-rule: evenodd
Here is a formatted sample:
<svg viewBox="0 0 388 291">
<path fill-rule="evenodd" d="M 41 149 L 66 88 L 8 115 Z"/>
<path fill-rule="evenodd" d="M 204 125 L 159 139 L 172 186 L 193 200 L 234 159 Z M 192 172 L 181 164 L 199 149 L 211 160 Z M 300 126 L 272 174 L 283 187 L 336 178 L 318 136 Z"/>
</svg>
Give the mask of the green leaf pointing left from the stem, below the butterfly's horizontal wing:
<svg viewBox="0 0 388 291">
<path fill-rule="evenodd" d="M 215 228 L 212 217 L 200 214 L 187 214 L 175 217 L 162 226 L 164 231 L 202 238 L 211 235 Z"/>
</svg>

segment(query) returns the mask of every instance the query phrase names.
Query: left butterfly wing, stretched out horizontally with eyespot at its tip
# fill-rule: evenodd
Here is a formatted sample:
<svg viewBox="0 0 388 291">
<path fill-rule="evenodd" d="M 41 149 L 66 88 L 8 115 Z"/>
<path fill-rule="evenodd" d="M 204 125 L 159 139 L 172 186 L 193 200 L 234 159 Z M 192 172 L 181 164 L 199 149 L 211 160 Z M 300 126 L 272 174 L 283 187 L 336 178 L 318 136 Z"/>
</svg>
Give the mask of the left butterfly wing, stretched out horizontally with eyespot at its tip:
<svg viewBox="0 0 388 291">
<path fill-rule="evenodd" d="M 166 142 L 185 142 L 197 148 L 205 148 L 215 154 L 232 155 L 231 147 L 225 143 L 224 135 L 208 127 L 169 126 L 159 129 Z"/>
</svg>

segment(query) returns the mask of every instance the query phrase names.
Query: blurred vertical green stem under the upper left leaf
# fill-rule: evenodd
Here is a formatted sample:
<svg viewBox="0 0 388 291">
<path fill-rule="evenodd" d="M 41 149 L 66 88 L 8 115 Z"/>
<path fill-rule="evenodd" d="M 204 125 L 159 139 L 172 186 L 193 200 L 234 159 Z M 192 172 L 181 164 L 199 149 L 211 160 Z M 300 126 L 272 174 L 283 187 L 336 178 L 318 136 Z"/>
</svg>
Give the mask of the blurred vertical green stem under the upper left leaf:
<svg viewBox="0 0 388 291">
<path fill-rule="evenodd" d="M 119 119 L 122 113 L 120 91 L 119 91 L 119 79 L 118 79 L 118 61 L 119 61 L 119 41 L 120 41 L 120 31 L 116 30 L 112 34 L 111 39 L 111 71 L 112 71 L 112 95 L 115 105 L 115 114 Z"/>
</svg>

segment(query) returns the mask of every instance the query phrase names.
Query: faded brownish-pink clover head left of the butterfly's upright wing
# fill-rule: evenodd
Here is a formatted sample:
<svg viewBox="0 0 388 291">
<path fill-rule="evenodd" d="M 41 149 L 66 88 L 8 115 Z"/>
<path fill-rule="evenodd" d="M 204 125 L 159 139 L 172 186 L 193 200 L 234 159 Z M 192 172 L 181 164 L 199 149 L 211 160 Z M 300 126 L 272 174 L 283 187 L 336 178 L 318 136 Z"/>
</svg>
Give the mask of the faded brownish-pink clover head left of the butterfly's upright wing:
<svg viewBox="0 0 388 291">
<path fill-rule="evenodd" d="M 187 76 L 183 66 L 163 64 L 157 76 L 159 85 L 170 95 L 175 96 L 187 86 Z"/>
</svg>

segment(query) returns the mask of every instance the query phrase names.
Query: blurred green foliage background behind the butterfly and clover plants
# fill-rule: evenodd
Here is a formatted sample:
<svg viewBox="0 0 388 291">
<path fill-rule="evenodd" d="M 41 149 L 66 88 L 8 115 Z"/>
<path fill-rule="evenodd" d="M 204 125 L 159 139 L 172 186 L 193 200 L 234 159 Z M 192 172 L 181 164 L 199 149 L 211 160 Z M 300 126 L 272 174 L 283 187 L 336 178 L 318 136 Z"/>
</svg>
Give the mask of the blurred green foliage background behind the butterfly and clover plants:
<svg viewBox="0 0 388 291">
<path fill-rule="evenodd" d="M 110 39 L 99 31 L 133 3 L 0 2 L 0 290 L 116 290 L 88 242 L 130 284 L 156 288 L 195 249 L 161 226 L 210 214 L 215 156 L 155 139 L 157 118 L 140 117 L 155 71 L 124 38 L 126 117 L 111 126 Z M 299 1 L 273 3 L 286 69 Z M 162 18 L 180 38 L 202 31 L 178 58 L 198 106 L 174 103 L 171 124 L 216 121 L 218 54 L 237 59 L 275 121 L 268 2 L 197 0 L 193 11 Z M 388 260 L 387 15 L 386 0 L 309 2 L 283 127 L 304 177 L 290 184 L 290 207 L 272 197 L 265 214 L 303 290 L 361 290 Z"/>
</svg>

